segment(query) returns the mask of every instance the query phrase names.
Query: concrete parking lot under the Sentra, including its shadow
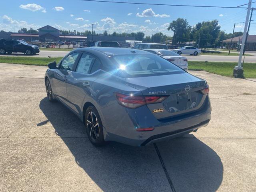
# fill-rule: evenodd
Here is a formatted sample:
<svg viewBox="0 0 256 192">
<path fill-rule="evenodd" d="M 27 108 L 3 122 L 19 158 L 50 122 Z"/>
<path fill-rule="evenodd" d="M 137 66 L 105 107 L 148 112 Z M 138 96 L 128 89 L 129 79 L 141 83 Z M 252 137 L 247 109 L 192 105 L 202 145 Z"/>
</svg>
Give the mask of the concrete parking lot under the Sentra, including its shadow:
<svg viewBox="0 0 256 192">
<path fill-rule="evenodd" d="M 146 147 L 94 147 L 46 98 L 46 67 L 0 64 L 0 191 L 256 191 L 256 81 L 203 71 L 212 120 Z"/>
</svg>

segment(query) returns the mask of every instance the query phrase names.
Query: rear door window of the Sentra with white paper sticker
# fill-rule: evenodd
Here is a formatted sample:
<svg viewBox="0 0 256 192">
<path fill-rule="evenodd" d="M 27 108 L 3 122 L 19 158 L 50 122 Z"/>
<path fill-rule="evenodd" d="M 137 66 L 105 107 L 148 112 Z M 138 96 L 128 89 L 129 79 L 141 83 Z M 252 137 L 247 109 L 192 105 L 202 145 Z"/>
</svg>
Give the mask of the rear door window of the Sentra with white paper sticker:
<svg viewBox="0 0 256 192">
<path fill-rule="evenodd" d="M 76 68 L 76 72 L 89 74 L 90 67 L 94 64 L 96 58 L 87 53 L 83 53 Z"/>
</svg>

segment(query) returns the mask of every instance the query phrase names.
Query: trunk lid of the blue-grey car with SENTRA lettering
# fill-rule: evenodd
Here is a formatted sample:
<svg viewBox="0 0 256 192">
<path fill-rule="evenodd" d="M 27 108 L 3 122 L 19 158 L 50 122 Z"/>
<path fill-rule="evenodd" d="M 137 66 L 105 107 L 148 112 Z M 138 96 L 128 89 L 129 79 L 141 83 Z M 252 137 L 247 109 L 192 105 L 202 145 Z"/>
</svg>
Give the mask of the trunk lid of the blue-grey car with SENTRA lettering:
<svg viewBox="0 0 256 192">
<path fill-rule="evenodd" d="M 167 96 L 160 103 L 147 104 L 157 119 L 198 110 L 206 98 L 200 91 L 207 87 L 206 81 L 188 73 L 126 78 L 126 82 L 144 96 Z"/>
</svg>

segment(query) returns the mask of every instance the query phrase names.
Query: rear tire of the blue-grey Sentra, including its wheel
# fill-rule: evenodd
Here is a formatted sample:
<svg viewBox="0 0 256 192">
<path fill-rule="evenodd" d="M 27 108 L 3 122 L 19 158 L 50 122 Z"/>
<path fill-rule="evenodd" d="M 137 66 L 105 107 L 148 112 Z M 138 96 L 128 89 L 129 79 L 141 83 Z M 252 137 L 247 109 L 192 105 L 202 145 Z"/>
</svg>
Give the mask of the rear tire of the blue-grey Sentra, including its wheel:
<svg viewBox="0 0 256 192">
<path fill-rule="evenodd" d="M 85 129 L 90 142 L 94 146 L 103 146 L 105 143 L 103 137 L 102 122 L 100 115 L 94 106 L 89 106 L 84 115 Z"/>
</svg>

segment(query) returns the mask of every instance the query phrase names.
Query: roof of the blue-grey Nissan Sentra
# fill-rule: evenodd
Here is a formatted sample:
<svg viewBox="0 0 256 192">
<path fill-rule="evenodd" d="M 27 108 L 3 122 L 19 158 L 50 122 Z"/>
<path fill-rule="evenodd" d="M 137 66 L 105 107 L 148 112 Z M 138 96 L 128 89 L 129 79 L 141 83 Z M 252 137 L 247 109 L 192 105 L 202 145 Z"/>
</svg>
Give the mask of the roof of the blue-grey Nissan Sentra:
<svg viewBox="0 0 256 192">
<path fill-rule="evenodd" d="M 98 52 L 102 52 L 108 56 L 110 55 L 128 55 L 128 54 L 150 54 L 149 52 L 138 50 L 138 49 L 130 49 L 130 48 L 115 48 L 115 47 L 88 47 L 88 48 L 78 48 L 74 51 L 92 51 L 96 50 Z"/>
</svg>

